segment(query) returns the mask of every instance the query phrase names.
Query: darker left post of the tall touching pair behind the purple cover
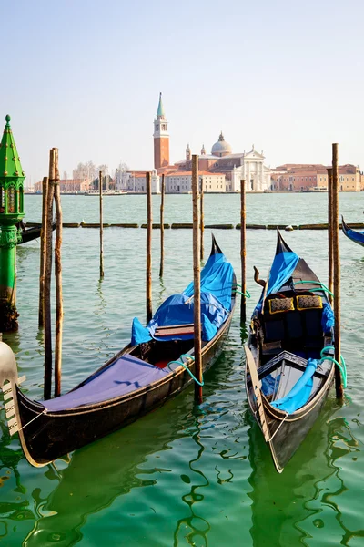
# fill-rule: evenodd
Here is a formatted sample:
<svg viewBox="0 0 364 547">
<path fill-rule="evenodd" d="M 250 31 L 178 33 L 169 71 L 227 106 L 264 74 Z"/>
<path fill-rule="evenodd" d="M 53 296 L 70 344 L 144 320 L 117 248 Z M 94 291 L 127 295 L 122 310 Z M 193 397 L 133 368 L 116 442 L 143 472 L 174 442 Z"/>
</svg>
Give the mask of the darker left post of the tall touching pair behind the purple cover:
<svg viewBox="0 0 364 547">
<path fill-rule="evenodd" d="M 52 315 L 51 315 L 51 274 L 52 274 L 52 221 L 53 199 L 56 179 L 56 152 L 49 150 L 48 192 L 46 195 L 45 225 L 45 284 L 44 284 L 44 321 L 45 321 L 45 399 L 52 391 Z"/>
</svg>

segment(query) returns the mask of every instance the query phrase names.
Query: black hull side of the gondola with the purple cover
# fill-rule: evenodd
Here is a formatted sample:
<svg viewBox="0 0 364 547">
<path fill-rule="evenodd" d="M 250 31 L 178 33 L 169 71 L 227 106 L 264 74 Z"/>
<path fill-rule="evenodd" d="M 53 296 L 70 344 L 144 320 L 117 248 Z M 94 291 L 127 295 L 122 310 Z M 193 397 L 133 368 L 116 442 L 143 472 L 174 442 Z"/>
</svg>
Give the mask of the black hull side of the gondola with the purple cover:
<svg viewBox="0 0 364 547">
<path fill-rule="evenodd" d="M 216 338 L 203 348 L 204 373 L 220 355 L 230 323 L 231 315 L 217 333 Z M 127 347 L 120 355 L 130 349 Z M 189 368 L 193 371 L 193 362 Z M 43 405 L 28 399 L 16 387 L 20 423 L 22 426 L 27 424 L 20 431 L 25 456 L 35 467 L 43 466 L 132 423 L 165 404 L 168 399 L 175 397 L 192 382 L 187 370 L 179 366 L 164 380 L 125 397 L 53 413 L 45 412 Z"/>
</svg>

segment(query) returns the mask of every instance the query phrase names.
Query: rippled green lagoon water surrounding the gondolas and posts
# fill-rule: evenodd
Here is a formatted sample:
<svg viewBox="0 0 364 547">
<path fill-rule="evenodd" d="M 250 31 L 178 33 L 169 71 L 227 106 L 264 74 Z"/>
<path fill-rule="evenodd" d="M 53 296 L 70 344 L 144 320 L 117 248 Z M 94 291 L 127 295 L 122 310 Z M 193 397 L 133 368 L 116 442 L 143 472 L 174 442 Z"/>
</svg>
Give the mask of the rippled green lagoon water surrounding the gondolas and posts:
<svg viewBox="0 0 364 547">
<path fill-rule="evenodd" d="M 325 194 L 248 196 L 248 222 L 325 222 Z M 155 222 L 159 198 L 154 196 Z M 191 196 L 167 196 L 166 222 L 190 222 Z M 145 198 L 105 199 L 105 222 L 145 222 Z M 26 196 L 28 221 L 40 218 L 41 197 Z M 207 196 L 207 223 L 239 220 L 239 196 Z M 96 222 L 94 197 L 64 196 L 65 222 Z M 364 194 L 340 196 L 348 222 L 363 217 Z M 206 231 L 206 255 L 209 247 Z M 153 304 L 192 278 L 192 231 L 167 230 L 163 282 L 159 232 L 153 232 Z M 239 277 L 239 232 L 215 231 Z M 146 231 L 108 228 L 105 280 L 98 280 L 98 231 L 65 229 L 65 331 L 62 389 L 74 387 L 126 345 L 132 318 L 145 317 Z M 327 282 L 326 232 L 287 232 L 288 244 Z M 248 232 L 248 315 L 258 299 L 253 264 L 262 276 L 276 235 Z M 364 251 L 340 235 L 342 353 L 349 369 L 344 403 L 334 390 L 281 475 L 248 412 L 238 311 L 223 355 L 205 378 L 204 403 L 193 388 L 163 408 L 84 449 L 32 468 L 10 439 L 0 413 L 0 545 L 326 547 L 364 545 L 362 386 Z M 5 335 L 30 397 L 43 392 L 42 334 L 37 331 L 39 243 L 17 250 L 20 328 Z"/>
</svg>

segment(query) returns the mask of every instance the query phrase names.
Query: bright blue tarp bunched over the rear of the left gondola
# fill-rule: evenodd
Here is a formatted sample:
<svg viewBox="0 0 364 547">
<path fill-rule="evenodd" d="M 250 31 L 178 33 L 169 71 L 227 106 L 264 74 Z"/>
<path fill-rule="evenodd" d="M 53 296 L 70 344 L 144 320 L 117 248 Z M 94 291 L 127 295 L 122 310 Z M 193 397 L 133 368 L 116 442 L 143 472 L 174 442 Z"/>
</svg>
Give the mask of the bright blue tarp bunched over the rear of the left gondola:
<svg viewBox="0 0 364 547">
<path fill-rule="evenodd" d="M 209 257 L 201 272 L 201 327 L 202 339 L 211 340 L 231 311 L 231 289 L 234 271 L 223 253 Z M 131 344 L 136 346 L 153 337 L 158 340 L 189 339 L 193 335 L 173 335 L 157 338 L 158 326 L 187 325 L 194 322 L 193 284 L 181 294 L 172 294 L 161 304 L 153 318 L 144 327 L 137 317 L 133 320 Z"/>
</svg>

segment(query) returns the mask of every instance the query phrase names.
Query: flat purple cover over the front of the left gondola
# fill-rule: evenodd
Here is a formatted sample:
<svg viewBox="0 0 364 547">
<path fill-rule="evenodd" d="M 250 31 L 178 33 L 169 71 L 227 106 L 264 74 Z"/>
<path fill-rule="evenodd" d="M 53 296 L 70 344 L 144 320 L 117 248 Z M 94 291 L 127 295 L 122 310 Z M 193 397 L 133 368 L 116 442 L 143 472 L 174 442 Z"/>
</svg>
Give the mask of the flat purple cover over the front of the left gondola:
<svg viewBox="0 0 364 547">
<path fill-rule="evenodd" d="M 147 386 L 169 373 L 168 368 L 158 368 L 134 356 L 121 356 L 91 377 L 84 386 L 61 397 L 43 401 L 43 405 L 52 412 L 102 403 Z"/>
</svg>

